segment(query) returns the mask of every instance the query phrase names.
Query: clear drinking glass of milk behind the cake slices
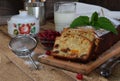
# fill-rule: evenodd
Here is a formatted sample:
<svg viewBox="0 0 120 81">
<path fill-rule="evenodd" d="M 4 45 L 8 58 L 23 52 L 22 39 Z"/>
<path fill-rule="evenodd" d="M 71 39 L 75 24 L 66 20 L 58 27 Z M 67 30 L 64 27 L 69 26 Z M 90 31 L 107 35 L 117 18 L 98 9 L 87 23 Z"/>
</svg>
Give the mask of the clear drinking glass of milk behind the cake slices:
<svg viewBox="0 0 120 81">
<path fill-rule="evenodd" d="M 61 32 L 64 28 L 69 27 L 75 18 L 75 12 L 75 2 L 56 2 L 54 4 L 55 30 Z"/>
</svg>

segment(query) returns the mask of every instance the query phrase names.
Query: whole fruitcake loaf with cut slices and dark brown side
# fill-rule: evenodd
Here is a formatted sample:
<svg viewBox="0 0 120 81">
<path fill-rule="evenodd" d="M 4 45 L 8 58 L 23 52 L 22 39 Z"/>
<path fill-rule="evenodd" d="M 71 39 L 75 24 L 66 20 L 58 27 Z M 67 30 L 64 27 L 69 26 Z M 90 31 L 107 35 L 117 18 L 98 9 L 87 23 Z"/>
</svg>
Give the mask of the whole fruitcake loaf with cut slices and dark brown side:
<svg viewBox="0 0 120 81">
<path fill-rule="evenodd" d="M 95 60 L 104 51 L 120 40 L 112 32 L 99 34 L 91 28 L 64 29 L 61 36 L 56 38 L 52 56 L 70 61 L 88 62 Z"/>
</svg>

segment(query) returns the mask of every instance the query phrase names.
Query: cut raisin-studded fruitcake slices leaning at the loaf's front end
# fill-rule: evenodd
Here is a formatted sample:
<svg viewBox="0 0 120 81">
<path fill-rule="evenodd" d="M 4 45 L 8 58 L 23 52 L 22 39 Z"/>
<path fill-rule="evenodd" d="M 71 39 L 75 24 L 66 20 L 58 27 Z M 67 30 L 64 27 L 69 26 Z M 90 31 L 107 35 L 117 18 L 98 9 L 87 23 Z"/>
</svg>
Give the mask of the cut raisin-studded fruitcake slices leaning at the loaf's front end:
<svg viewBox="0 0 120 81">
<path fill-rule="evenodd" d="M 87 61 L 95 47 L 95 33 L 87 29 L 64 29 L 56 38 L 52 55 L 65 60 Z"/>
</svg>

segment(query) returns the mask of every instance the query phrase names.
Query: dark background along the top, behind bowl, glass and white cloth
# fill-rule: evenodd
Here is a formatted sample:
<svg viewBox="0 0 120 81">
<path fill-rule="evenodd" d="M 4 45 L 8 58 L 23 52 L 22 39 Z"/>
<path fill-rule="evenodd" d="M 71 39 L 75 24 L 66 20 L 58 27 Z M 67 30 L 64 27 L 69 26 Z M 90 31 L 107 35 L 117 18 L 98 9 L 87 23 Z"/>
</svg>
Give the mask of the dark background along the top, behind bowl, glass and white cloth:
<svg viewBox="0 0 120 81">
<path fill-rule="evenodd" d="M 46 0 L 45 8 L 47 18 L 53 17 L 53 5 L 56 1 L 61 0 Z M 108 8 L 109 10 L 120 11 L 120 0 L 79 0 L 79 2 L 100 5 Z M 0 16 L 18 14 L 20 9 L 24 9 L 24 0 L 0 0 Z"/>
</svg>

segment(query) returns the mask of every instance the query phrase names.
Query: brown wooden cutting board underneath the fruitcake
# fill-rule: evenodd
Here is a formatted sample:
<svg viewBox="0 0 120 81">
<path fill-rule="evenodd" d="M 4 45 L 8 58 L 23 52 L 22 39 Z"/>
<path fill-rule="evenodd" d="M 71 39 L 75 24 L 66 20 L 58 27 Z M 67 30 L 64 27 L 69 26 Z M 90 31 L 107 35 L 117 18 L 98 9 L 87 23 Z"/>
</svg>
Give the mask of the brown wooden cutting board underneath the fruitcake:
<svg viewBox="0 0 120 81">
<path fill-rule="evenodd" d="M 69 70 L 72 72 L 89 74 L 91 71 L 99 67 L 108 59 L 120 55 L 120 41 L 118 41 L 114 46 L 112 46 L 109 50 L 104 52 L 97 60 L 93 62 L 89 62 L 87 64 L 75 63 L 70 61 L 63 61 L 60 59 L 56 59 L 52 56 L 47 56 L 44 58 L 40 58 L 39 61 L 45 64 L 49 64 L 55 67 L 59 67 L 65 70 Z"/>
</svg>

